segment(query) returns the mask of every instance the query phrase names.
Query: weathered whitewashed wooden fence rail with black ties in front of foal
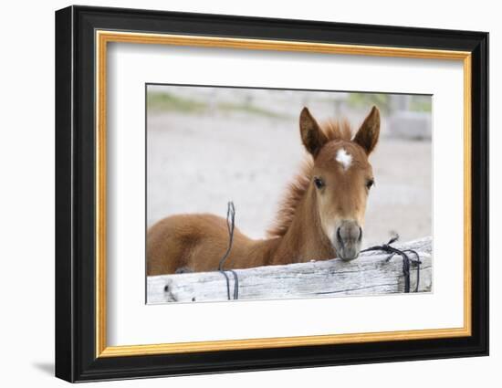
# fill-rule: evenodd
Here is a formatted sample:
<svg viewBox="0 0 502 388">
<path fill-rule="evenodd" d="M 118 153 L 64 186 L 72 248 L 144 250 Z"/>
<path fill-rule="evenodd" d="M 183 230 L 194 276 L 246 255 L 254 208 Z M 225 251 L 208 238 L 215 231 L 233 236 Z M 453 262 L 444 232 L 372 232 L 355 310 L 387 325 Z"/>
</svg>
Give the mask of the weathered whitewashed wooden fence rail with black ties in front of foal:
<svg viewBox="0 0 502 388">
<path fill-rule="evenodd" d="M 416 250 L 422 261 L 419 291 L 432 288 L 432 239 L 425 237 L 405 244 L 400 249 Z M 378 252 L 365 252 L 356 260 L 340 259 L 237 269 L 239 299 L 319 298 L 344 295 L 377 295 L 403 292 L 403 259 Z M 416 285 L 416 269 L 411 269 L 411 289 Z M 234 278 L 230 278 L 231 293 Z M 172 301 L 227 300 L 225 277 L 219 272 L 187 273 L 148 277 L 148 303 Z"/>
</svg>

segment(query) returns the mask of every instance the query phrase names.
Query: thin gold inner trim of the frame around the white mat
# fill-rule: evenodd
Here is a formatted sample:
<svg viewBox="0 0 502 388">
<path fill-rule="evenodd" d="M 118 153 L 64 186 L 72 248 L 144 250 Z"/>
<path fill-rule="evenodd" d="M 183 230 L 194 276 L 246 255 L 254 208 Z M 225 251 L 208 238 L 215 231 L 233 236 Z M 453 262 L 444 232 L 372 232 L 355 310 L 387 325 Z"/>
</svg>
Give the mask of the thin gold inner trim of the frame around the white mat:
<svg viewBox="0 0 502 388">
<path fill-rule="evenodd" d="M 298 41 L 195 37 L 96 31 L 96 357 L 137 356 L 194 351 L 230 351 L 374 341 L 407 341 L 471 335 L 471 53 L 403 47 L 338 45 Z M 297 51 L 369 57 L 450 59 L 464 65 L 464 326 L 452 329 L 398 330 L 225 341 L 194 341 L 108 346 L 106 341 L 106 90 L 109 42 Z"/>
</svg>

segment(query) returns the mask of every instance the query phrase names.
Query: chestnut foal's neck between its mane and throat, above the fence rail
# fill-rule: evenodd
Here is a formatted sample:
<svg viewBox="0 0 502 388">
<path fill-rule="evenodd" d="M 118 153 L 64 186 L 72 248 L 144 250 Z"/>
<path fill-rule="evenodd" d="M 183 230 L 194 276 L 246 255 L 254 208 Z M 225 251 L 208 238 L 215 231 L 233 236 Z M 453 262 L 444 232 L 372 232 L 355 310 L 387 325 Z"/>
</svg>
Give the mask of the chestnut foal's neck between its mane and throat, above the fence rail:
<svg viewBox="0 0 502 388">
<path fill-rule="evenodd" d="M 298 203 L 288 232 L 278 238 L 271 258 L 273 264 L 327 259 L 336 254 L 320 225 L 317 196 L 311 188 Z"/>
</svg>

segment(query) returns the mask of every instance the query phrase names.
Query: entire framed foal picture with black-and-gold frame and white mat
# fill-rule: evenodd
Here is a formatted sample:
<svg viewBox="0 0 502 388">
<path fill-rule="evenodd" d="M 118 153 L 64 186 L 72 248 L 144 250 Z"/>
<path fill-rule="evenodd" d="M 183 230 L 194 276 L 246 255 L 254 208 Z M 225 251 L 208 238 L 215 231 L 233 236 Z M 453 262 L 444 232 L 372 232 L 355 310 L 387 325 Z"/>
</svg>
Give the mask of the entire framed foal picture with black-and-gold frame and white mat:
<svg viewBox="0 0 502 388">
<path fill-rule="evenodd" d="M 488 34 L 56 13 L 56 375 L 488 354 Z"/>
</svg>

